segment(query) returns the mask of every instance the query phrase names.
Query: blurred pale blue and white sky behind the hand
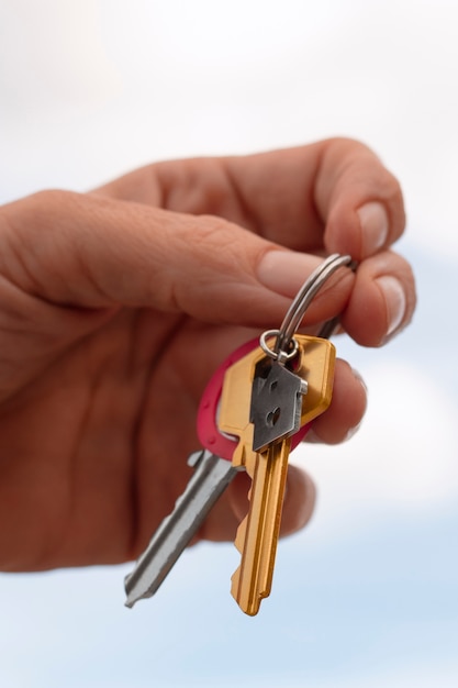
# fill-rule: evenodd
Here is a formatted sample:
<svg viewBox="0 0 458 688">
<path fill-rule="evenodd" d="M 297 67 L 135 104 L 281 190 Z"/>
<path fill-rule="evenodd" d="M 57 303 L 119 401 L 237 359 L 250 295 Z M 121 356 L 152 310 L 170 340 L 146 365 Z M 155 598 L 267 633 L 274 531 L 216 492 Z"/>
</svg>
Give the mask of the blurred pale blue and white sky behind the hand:
<svg viewBox="0 0 458 688">
<path fill-rule="evenodd" d="M 1 687 L 456 688 L 457 34 L 453 0 L 2 0 L 0 202 L 351 136 L 402 181 L 420 301 L 383 351 L 337 342 L 366 422 L 294 454 L 317 508 L 258 617 L 230 596 L 231 544 L 133 610 L 131 566 L 3 575 Z"/>
</svg>

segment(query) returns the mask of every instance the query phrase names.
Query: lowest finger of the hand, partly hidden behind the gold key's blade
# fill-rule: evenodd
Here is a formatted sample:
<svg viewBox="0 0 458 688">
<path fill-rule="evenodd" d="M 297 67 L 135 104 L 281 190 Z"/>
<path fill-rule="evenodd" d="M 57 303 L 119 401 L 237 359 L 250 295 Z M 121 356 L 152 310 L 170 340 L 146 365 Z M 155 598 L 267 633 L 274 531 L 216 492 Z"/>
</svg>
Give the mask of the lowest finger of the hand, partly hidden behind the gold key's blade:
<svg viewBox="0 0 458 688">
<path fill-rule="evenodd" d="M 199 532 L 199 540 L 233 541 L 241 521 L 248 512 L 252 480 L 241 473 L 212 509 Z M 287 489 L 281 518 L 281 535 L 304 528 L 315 506 L 316 490 L 312 479 L 300 468 L 288 467 Z"/>
</svg>

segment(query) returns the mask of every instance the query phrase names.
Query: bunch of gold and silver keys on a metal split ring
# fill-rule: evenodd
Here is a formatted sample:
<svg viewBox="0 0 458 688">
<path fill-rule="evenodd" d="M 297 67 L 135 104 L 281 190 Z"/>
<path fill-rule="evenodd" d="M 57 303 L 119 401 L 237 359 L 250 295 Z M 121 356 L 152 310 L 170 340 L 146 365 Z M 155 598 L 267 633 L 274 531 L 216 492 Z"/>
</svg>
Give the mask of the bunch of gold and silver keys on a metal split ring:
<svg viewBox="0 0 458 688">
<path fill-rule="evenodd" d="M 239 470 L 252 478 L 248 513 L 235 546 L 241 565 L 232 595 L 255 615 L 272 584 L 289 454 L 310 423 L 331 403 L 335 348 L 327 339 L 337 319 L 319 336 L 297 334 L 305 310 L 324 282 L 350 256 L 334 254 L 305 281 L 280 330 L 234 352 L 213 375 L 199 407 L 203 450 L 191 454 L 193 474 L 174 511 L 161 522 L 134 570 L 125 578 L 126 606 L 152 597 L 212 507 Z"/>
</svg>

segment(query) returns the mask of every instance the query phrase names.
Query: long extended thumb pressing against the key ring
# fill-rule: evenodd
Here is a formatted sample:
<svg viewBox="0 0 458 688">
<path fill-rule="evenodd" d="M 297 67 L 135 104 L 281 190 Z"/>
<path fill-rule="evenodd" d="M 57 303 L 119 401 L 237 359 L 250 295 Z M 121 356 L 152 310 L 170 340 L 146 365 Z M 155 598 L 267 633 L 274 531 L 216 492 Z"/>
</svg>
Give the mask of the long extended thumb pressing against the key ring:
<svg viewBox="0 0 458 688">
<path fill-rule="evenodd" d="M 1 209 L 0 270 L 27 293 L 60 306 L 146 307 L 206 322 L 267 326 L 316 267 L 315 256 L 212 215 L 189 215 L 67 191 Z M 304 322 L 338 313 L 343 273 Z"/>
</svg>

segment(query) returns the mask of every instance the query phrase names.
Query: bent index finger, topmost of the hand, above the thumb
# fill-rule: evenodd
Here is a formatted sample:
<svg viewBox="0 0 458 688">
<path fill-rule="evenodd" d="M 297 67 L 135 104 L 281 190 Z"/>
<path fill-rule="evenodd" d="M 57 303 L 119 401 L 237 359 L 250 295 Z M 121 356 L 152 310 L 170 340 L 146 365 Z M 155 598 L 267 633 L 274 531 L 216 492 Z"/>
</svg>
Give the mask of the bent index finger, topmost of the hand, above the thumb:
<svg viewBox="0 0 458 688">
<path fill-rule="evenodd" d="M 405 222 L 396 179 L 367 146 L 348 138 L 159 163 L 98 193 L 220 215 L 293 251 L 325 248 L 357 260 L 390 246 Z"/>
</svg>

